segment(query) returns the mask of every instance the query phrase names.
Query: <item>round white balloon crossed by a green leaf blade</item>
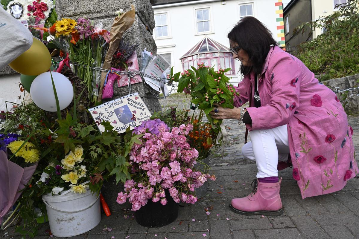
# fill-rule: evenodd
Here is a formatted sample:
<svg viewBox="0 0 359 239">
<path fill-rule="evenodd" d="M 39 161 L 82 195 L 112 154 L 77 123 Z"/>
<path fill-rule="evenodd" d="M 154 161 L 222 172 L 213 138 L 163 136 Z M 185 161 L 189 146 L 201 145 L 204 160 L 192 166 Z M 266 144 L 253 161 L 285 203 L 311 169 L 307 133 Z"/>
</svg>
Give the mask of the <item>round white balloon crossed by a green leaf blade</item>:
<svg viewBox="0 0 359 239">
<path fill-rule="evenodd" d="M 63 110 L 73 100 L 73 87 L 69 79 L 61 73 L 52 71 L 51 74 L 59 98 L 60 110 Z M 34 79 L 31 84 L 30 95 L 39 108 L 51 112 L 57 111 L 50 71 L 41 73 Z"/>
</svg>

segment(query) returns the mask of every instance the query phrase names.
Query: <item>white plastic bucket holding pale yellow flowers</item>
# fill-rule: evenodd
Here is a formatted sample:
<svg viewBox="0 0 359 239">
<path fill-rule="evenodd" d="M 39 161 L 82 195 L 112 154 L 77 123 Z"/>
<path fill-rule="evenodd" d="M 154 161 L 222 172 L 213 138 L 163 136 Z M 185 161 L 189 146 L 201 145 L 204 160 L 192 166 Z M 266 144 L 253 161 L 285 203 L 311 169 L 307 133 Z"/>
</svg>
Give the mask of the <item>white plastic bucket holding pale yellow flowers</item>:
<svg viewBox="0 0 359 239">
<path fill-rule="evenodd" d="M 99 195 L 67 193 L 66 195 L 42 195 L 46 205 L 51 233 L 58 237 L 83 234 L 101 221 Z"/>
</svg>

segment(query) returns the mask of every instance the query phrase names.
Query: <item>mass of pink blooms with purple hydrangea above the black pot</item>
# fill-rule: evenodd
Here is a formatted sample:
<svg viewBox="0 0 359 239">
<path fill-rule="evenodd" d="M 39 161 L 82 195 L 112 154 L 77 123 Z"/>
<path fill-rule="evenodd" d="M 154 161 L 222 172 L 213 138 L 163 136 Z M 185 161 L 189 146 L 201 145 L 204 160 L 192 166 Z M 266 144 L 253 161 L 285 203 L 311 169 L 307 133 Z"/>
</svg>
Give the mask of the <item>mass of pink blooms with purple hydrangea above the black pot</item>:
<svg viewBox="0 0 359 239">
<path fill-rule="evenodd" d="M 134 129 L 142 135 L 130 152 L 131 180 L 125 182 L 125 192 L 118 193 L 117 202 L 129 200 L 132 211 L 139 210 L 148 200 L 167 204 L 165 189 L 175 202 L 194 204 L 195 188 L 215 176 L 194 169 L 198 151 L 187 142 L 193 126 L 182 124 L 172 130 L 159 119 L 143 122 Z"/>
</svg>

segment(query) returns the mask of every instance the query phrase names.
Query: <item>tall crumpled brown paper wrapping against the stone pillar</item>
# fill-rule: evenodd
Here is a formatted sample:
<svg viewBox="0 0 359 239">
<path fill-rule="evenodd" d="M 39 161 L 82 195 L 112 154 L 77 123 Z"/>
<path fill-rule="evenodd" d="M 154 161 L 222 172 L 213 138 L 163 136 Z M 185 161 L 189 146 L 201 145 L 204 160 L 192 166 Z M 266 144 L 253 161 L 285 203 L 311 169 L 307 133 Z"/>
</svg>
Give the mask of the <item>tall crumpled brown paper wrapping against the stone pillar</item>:
<svg viewBox="0 0 359 239">
<path fill-rule="evenodd" d="M 116 52 L 118 45 L 121 42 L 123 33 L 131 27 L 131 25 L 135 21 L 135 6 L 131 5 L 131 10 L 126 11 L 125 13 L 121 14 L 119 17 L 116 16 L 115 20 L 113 20 L 113 24 L 111 27 L 110 32 L 110 43 L 108 47 L 108 51 L 103 63 L 102 68 L 104 69 L 110 69 L 111 68 L 111 61 L 112 61 L 112 55 Z M 100 102 L 102 100 L 102 91 L 103 91 L 103 84 L 105 83 L 107 72 L 101 73 L 101 86 L 100 86 L 100 92 L 98 94 L 97 100 Z"/>
</svg>

